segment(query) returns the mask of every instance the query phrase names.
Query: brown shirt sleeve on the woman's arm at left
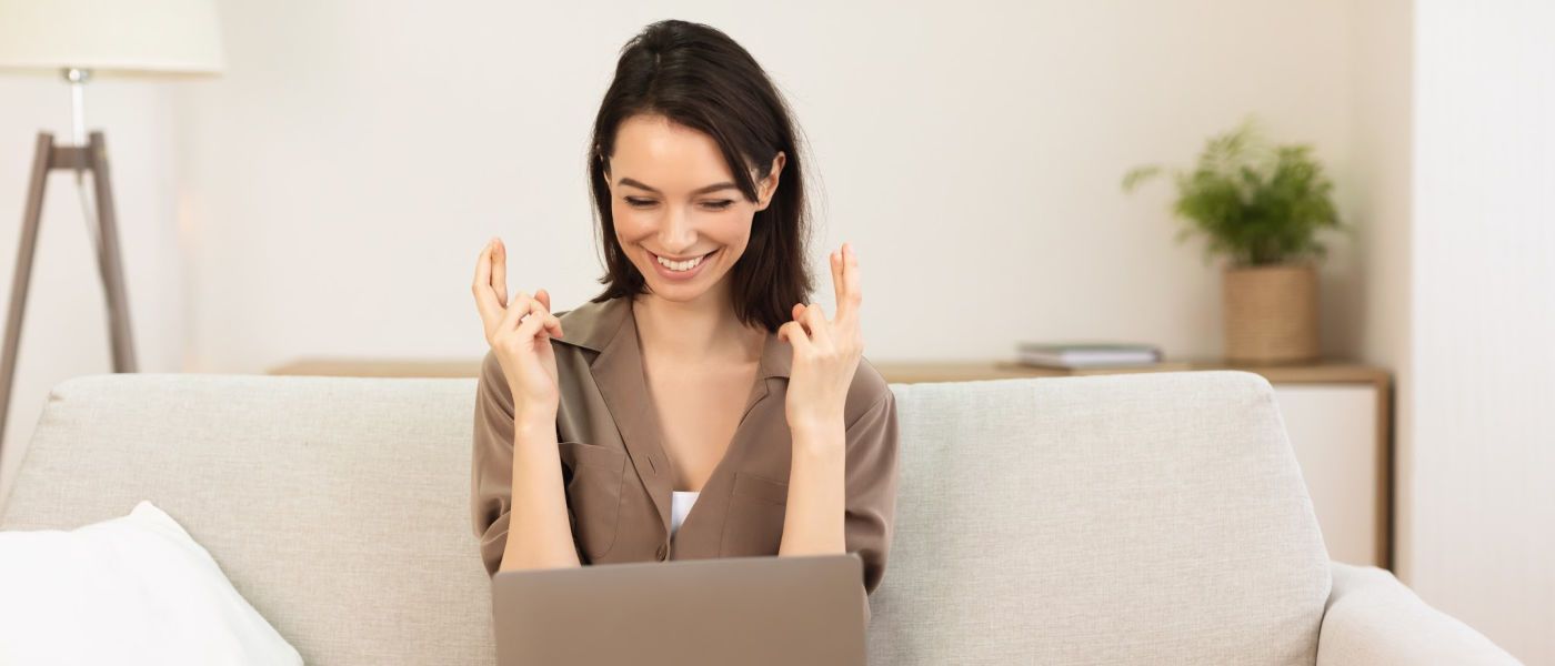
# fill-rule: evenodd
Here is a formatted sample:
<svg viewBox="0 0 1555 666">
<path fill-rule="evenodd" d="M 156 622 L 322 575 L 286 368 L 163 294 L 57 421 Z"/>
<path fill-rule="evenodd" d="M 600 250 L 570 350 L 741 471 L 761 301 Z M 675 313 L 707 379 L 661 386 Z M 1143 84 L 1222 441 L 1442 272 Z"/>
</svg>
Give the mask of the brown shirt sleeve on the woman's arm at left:
<svg viewBox="0 0 1555 666">
<path fill-rule="evenodd" d="M 471 526 L 480 540 L 487 576 L 496 576 L 507 548 L 513 508 L 513 393 L 496 352 L 487 351 L 476 382 L 474 449 L 471 452 Z M 572 519 L 571 508 L 568 511 Z M 575 534 L 574 526 L 574 534 Z M 577 539 L 572 543 L 577 548 Z M 578 553 L 582 562 L 582 553 Z"/>
</svg>

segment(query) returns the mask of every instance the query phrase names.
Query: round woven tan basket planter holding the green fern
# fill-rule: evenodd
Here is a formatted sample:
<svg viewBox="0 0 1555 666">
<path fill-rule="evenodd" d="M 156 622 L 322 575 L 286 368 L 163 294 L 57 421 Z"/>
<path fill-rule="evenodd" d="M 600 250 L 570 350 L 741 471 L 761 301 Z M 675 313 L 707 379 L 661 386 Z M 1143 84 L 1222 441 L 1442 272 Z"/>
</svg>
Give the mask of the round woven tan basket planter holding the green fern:
<svg viewBox="0 0 1555 666">
<path fill-rule="evenodd" d="M 1317 360 L 1317 269 L 1312 264 L 1227 267 L 1221 287 L 1227 360 Z"/>
</svg>

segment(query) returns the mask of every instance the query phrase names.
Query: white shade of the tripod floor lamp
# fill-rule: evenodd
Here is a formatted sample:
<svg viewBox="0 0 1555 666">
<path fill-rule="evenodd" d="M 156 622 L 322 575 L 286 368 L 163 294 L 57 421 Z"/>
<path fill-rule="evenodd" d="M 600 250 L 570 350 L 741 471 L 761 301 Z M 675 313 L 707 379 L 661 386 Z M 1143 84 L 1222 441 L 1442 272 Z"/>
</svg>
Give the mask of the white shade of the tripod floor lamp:
<svg viewBox="0 0 1555 666">
<path fill-rule="evenodd" d="M 0 70 L 191 76 L 222 65 L 215 0 L 0 0 Z"/>
</svg>

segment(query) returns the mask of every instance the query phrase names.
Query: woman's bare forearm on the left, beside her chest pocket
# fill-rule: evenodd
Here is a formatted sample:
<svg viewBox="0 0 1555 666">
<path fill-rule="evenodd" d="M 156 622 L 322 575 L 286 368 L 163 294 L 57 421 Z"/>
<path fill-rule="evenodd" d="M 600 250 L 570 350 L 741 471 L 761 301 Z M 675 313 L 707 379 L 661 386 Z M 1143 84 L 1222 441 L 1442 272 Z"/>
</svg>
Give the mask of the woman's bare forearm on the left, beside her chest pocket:
<svg viewBox="0 0 1555 666">
<path fill-rule="evenodd" d="M 578 565 L 555 419 L 519 418 L 513 427 L 513 505 L 499 571 Z"/>
</svg>

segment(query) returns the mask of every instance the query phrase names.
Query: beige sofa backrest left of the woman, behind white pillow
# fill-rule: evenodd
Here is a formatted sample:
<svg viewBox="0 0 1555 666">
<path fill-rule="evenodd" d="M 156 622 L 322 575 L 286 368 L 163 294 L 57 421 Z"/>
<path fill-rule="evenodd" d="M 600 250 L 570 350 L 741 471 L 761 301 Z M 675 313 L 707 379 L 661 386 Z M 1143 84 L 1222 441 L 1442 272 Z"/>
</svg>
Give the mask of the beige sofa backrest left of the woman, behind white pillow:
<svg viewBox="0 0 1555 666">
<path fill-rule="evenodd" d="M 474 379 L 98 374 L 61 382 L 3 529 L 151 500 L 305 663 L 490 664 L 470 526 Z"/>
</svg>

